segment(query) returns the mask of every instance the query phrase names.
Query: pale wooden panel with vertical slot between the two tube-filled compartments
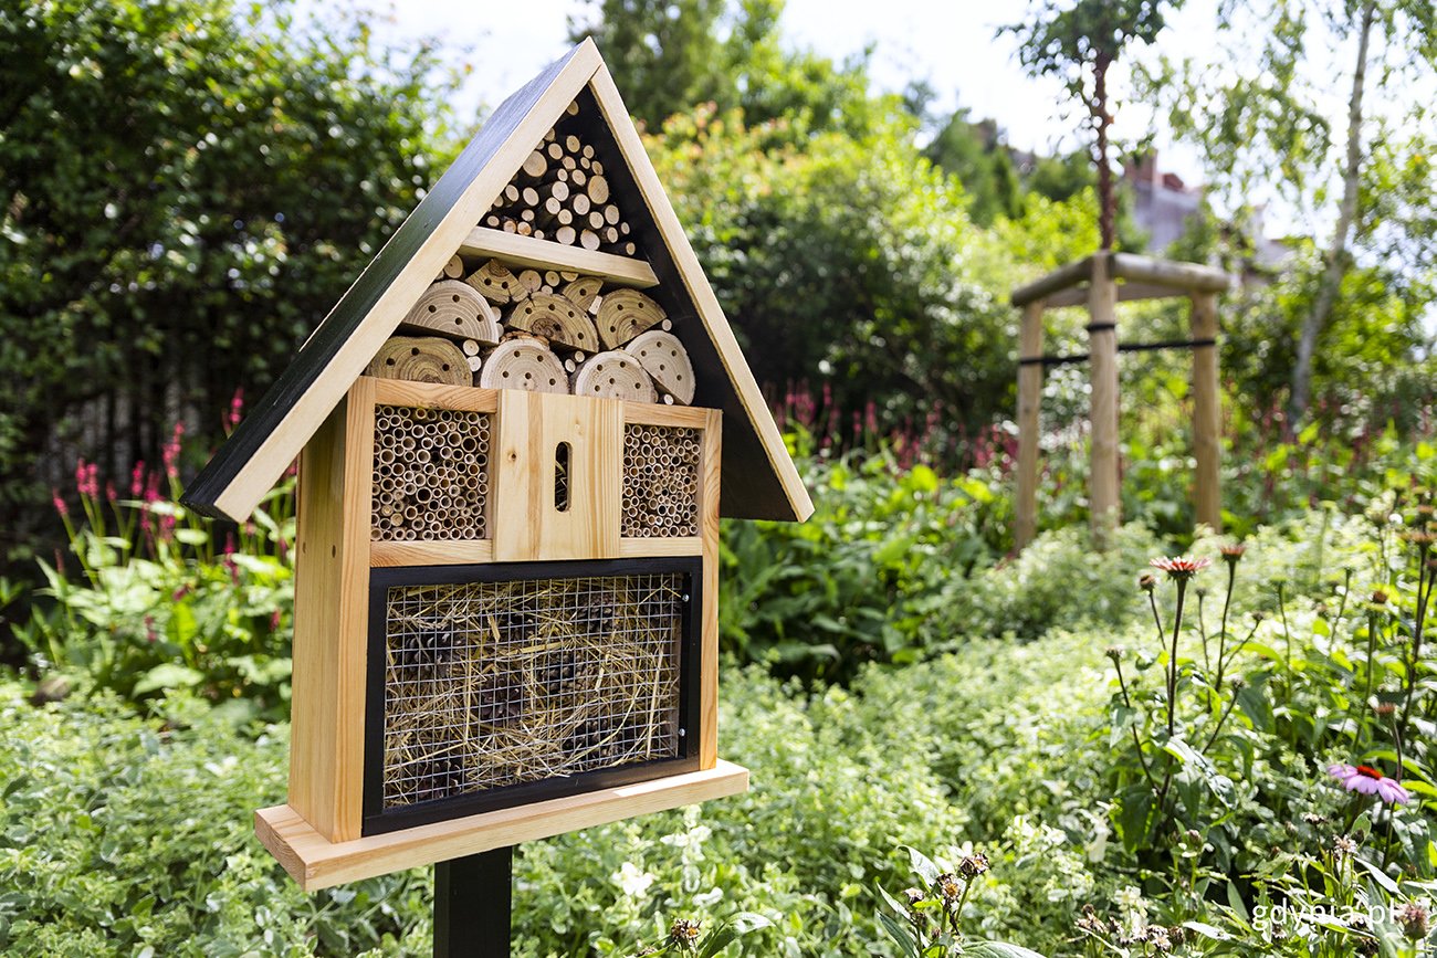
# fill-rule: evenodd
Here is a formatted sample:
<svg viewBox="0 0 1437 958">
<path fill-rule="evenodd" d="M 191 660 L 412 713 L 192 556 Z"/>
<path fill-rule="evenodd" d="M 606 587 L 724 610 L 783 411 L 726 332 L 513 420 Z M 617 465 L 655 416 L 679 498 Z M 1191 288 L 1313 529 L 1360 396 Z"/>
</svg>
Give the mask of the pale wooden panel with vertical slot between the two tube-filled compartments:
<svg viewBox="0 0 1437 958">
<path fill-rule="evenodd" d="M 568 507 L 555 501 L 568 444 Z M 499 392 L 491 457 L 494 562 L 614 559 L 619 554 L 624 404 L 549 392 Z"/>
</svg>

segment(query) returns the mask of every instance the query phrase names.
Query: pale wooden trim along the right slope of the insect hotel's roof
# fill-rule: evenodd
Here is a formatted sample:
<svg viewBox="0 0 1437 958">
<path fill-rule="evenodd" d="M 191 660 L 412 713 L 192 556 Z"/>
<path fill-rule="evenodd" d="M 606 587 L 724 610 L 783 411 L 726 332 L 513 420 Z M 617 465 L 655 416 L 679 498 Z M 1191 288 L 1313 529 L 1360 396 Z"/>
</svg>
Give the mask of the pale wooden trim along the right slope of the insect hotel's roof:
<svg viewBox="0 0 1437 958">
<path fill-rule="evenodd" d="M 809 497 L 808 487 L 803 485 L 803 478 L 799 475 L 793 457 L 789 455 L 783 435 L 779 432 L 779 425 L 773 421 L 773 414 L 769 411 L 769 405 L 763 399 L 763 392 L 753 378 L 753 371 L 749 369 L 749 363 L 743 358 L 743 350 L 739 349 L 739 340 L 733 335 L 733 327 L 729 326 L 729 319 L 718 304 L 718 297 L 714 294 L 713 287 L 708 284 L 708 277 L 698 264 L 698 257 L 688 243 L 688 234 L 684 233 L 683 224 L 678 221 L 678 214 L 674 213 L 674 207 L 668 201 L 668 194 L 664 192 L 662 184 L 658 182 L 658 174 L 654 171 L 654 164 L 650 161 L 648 152 L 644 149 L 644 142 L 634 128 L 634 121 L 629 119 L 628 108 L 624 106 L 624 98 L 614 83 L 608 68 L 602 63 L 589 79 L 589 88 L 593 90 L 593 98 L 598 101 L 599 111 L 604 113 L 609 129 L 614 132 L 619 152 L 634 174 L 634 182 L 638 185 L 639 194 L 644 197 L 644 203 L 654 217 L 660 237 L 674 257 L 678 274 L 683 277 L 684 286 L 697 307 L 704 332 L 708 333 L 708 339 L 718 353 L 718 361 L 723 363 L 739 404 L 749 417 L 759 437 L 759 444 L 767 455 L 769 465 L 783 488 L 792 520 L 802 523 L 813 514 L 813 500 Z"/>
</svg>

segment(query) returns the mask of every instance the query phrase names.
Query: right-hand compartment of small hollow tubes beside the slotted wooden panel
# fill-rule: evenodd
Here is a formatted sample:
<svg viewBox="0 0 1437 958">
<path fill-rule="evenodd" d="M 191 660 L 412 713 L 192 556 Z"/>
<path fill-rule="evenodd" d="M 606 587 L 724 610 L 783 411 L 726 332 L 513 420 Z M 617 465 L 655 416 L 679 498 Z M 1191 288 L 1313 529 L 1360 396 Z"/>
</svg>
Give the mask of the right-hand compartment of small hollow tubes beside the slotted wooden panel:
<svg viewBox="0 0 1437 958">
<path fill-rule="evenodd" d="M 698 534 L 700 441 L 698 429 L 624 427 L 621 536 Z"/>
</svg>

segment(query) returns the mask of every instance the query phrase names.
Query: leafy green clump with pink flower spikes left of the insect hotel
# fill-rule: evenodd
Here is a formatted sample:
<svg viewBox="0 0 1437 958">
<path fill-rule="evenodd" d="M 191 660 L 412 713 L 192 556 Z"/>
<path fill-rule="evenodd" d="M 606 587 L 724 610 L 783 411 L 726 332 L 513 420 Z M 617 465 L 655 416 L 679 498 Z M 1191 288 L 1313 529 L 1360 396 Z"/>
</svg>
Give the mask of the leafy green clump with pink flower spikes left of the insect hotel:
<svg viewBox="0 0 1437 958">
<path fill-rule="evenodd" d="M 175 457 L 178 442 L 167 451 Z M 147 485 L 138 477 L 137 493 Z M 16 628 L 33 668 L 80 694 L 141 704 L 188 689 L 236 718 L 287 715 L 293 481 L 223 543 L 214 523 L 160 498 L 154 483 L 144 500 L 119 501 L 88 488 L 93 481 L 78 529 L 57 500 L 78 575 L 42 562 L 39 596 L 52 602 Z M 170 483 L 178 496 L 174 473 Z"/>
</svg>

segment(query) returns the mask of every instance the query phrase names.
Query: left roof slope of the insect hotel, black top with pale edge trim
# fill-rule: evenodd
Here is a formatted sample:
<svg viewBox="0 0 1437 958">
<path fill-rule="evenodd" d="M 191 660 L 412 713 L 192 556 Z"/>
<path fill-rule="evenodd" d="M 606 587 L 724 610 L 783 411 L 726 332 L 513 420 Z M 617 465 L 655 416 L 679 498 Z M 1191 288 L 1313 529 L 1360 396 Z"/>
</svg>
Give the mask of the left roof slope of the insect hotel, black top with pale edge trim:
<svg viewBox="0 0 1437 958">
<path fill-rule="evenodd" d="M 484 124 L 474 141 L 471 141 L 470 148 L 466 149 L 466 152 L 474 148 L 480 152 L 490 149 L 489 158 L 471 174 L 457 169 L 460 165 L 458 161 L 450 167 L 450 171 L 456 172 L 460 178 L 464 175 L 468 177 L 458 187 L 458 195 L 453 204 L 447 210 L 438 211 L 437 221 L 425 223 L 425 218 L 434 217 L 437 210 L 433 204 L 427 208 L 425 203 L 421 201 L 405 223 L 395 230 L 395 234 L 389 237 L 385 248 L 361 271 L 354 286 L 341 297 L 339 303 L 336 303 L 320 326 L 329 323 L 336 316 L 343 316 L 343 307 L 351 296 L 355 294 L 356 287 L 366 282 L 366 274 L 376 263 L 385 259 L 385 250 L 395 243 L 395 238 L 405 231 L 405 227 L 411 221 L 414 223 L 412 230 L 427 230 L 420 250 L 407 259 L 388 282 L 384 282 L 382 290 L 362 316 L 354 320 L 346 319 L 346 335 L 336 345 L 331 348 L 328 340 L 315 336 L 306 349 L 300 349 L 300 353 L 292 361 L 290 368 L 286 369 L 286 373 L 290 373 L 292 369 L 295 369 L 295 373 L 282 375 L 280 381 L 276 381 L 270 392 L 260 399 L 256 414 L 240 422 L 240 427 L 220 447 L 214 458 L 210 460 L 205 468 L 185 488 L 181 501 L 187 507 L 205 516 L 231 518 L 234 521 L 243 521 L 254 511 L 269 490 L 283 475 L 285 470 L 289 468 L 289 464 L 299 455 L 305 442 L 309 441 L 329 412 L 339 405 L 354 379 L 364 372 L 364 366 L 372 359 L 379 343 L 368 342 L 375 338 L 372 335 L 361 336 L 358 333 L 365 332 L 365 327 L 374 320 L 375 315 L 384 315 L 385 312 L 394 316 L 394 323 L 382 330 L 381 339 L 394 332 L 394 327 L 402 319 L 402 313 L 408 309 L 408 303 L 401 309 L 398 303 L 392 302 L 397 299 L 397 290 L 407 293 L 407 287 L 417 282 L 414 277 L 421 277 L 424 284 L 427 284 L 440 271 L 444 261 L 453 256 L 454 248 L 468 236 L 473 223 L 479 221 L 483 210 L 487 208 L 493 198 L 499 195 L 499 191 L 503 190 L 504 184 L 513 177 L 514 171 L 519 169 L 523 158 L 533 148 L 533 142 L 539 142 L 545 129 L 553 125 L 553 121 L 558 119 L 563 108 L 585 88 L 599 66 L 602 66 L 602 59 L 599 57 L 598 47 L 593 45 L 593 40 L 586 39 L 565 56 L 546 66 L 500 103 L 499 109 L 494 111 L 489 122 Z M 556 99 L 562 99 L 563 102 L 556 103 Z M 506 116 L 507 111 L 520 109 L 522 113 L 513 119 Z M 496 121 L 500 122 L 496 124 Z M 497 135 L 500 126 L 509 126 L 509 131 L 500 136 L 497 144 L 486 144 L 486 131 L 493 129 Z M 527 135 L 530 132 L 533 134 L 532 136 Z M 503 180 L 494 175 L 494 169 L 503 171 Z M 445 177 L 450 171 L 445 172 Z M 441 192 L 445 177 L 440 178 L 425 195 L 425 200 Z M 479 188 L 486 181 L 494 181 L 491 184 L 493 195 L 487 198 L 477 197 Z M 435 200 L 435 203 L 443 201 Z M 470 210 L 470 207 L 476 208 Z M 450 237 L 450 233 L 454 236 Z M 418 296 L 418 292 L 414 294 Z M 313 349 L 319 350 L 316 356 L 319 368 L 310 375 L 310 371 L 303 368 L 302 358 Z M 309 375 L 308 383 L 286 382 L 290 378 L 296 381 L 303 379 L 306 375 Z M 289 402 L 287 406 L 283 405 L 285 399 L 287 399 L 286 394 L 293 392 L 295 386 L 299 385 L 303 388 L 299 389 L 297 398 Z M 277 394 L 279 398 L 272 399 L 272 394 Z"/>
</svg>

